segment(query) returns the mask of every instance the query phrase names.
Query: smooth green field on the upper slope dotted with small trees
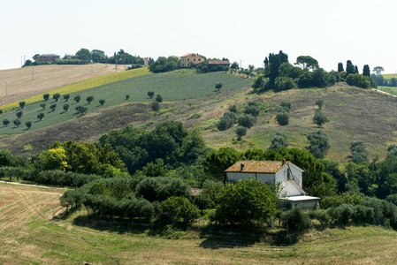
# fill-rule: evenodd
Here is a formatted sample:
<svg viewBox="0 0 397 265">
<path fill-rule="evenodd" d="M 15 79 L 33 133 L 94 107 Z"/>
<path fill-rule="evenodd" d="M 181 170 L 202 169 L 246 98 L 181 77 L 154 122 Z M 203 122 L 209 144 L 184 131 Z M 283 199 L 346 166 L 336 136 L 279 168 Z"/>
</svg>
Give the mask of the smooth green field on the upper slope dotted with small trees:
<svg viewBox="0 0 397 265">
<path fill-rule="evenodd" d="M 111 84 L 103 85 L 85 89 L 80 92 L 71 93 L 69 102 L 65 102 L 62 97 L 59 102 L 55 102 L 52 98 L 46 102 L 46 110 L 42 110 L 40 104 L 43 102 L 35 102 L 25 107 L 23 117 L 21 117 L 21 125 L 16 127 L 13 125 L 13 120 L 17 119 L 16 112 L 21 110 L 17 108 L 4 112 L 0 116 L 0 120 L 8 119 L 11 124 L 8 126 L 0 125 L 0 134 L 14 134 L 26 133 L 27 121 L 32 122 L 32 128 L 29 131 L 56 125 L 79 117 L 80 115 L 75 110 L 75 107 L 83 105 L 88 107 L 88 113 L 95 110 L 100 110 L 109 106 L 114 106 L 126 102 L 151 102 L 154 99 L 149 99 L 148 91 L 154 91 L 156 95 L 162 95 L 164 102 L 180 101 L 184 99 L 192 99 L 203 95 L 216 94 L 215 84 L 222 82 L 223 87 L 221 91 L 233 89 L 236 87 L 248 86 L 251 83 L 250 79 L 242 79 L 240 77 L 227 74 L 225 72 L 210 72 L 204 74 L 195 74 L 192 72 L 167 72 L 151 75 L 142 75 L 132 79 L 120 80 Z M 51 94 L 52 95 L 52 94 Z M 73 101 L 75 95 L 80 95 L 81 101 L 76 103 Z M 88 104 L 86 98 L 88 95 L 94 96 L 94 102 Z M 126 95 L 130 95 L 126 101 Z M 99 104 L 99 100 L 104 99 L 103 106 Z M 56 103 L 57 109 L 50 110 L 50 105 Z M 64 104 L 69 104 L 68 111 L 63 110 Z M 43 112 L 45 117 L 39 121 L 37 115 Z"/>
</svg>

